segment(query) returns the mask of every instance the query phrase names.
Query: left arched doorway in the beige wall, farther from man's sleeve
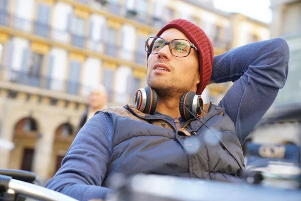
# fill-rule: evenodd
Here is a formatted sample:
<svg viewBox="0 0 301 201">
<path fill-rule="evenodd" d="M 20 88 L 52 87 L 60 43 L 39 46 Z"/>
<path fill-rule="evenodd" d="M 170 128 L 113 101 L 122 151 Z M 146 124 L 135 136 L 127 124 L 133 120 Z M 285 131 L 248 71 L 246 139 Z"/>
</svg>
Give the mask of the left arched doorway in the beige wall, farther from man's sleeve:
<svg viewBox="0 0 301 201">
<path fill-rule="evenodd" d="M 11 152 L 9 168 L 32 171 L 35 146 L 39 136 L 38 123 L 32 117 L 19 120 L 14 129 L 15 149 Z"/>
</svg>

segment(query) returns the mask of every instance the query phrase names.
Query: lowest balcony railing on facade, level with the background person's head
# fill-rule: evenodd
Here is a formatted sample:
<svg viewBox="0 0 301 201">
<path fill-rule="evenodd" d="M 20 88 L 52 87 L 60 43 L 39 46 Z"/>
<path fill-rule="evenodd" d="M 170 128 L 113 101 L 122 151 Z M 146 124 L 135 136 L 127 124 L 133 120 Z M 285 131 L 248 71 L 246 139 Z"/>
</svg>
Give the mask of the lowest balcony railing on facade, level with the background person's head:
<svg viewBox="0 0 301 201">
<path fill-rule="evenodd" d="M 91 90 L 91 86 L 81 84 L 78 81 L 41 76 L 4 66 L 0 67 L 0 80 L 80 96 L 87 95 Z M 139 86 L 136 86 L 136 88 L 139 88 Z M 131 92 L 118 92 L 107 89 L 109 102 L 116 104 L 132 103 L 134 92 L 134 90 Z"/>
</svg>

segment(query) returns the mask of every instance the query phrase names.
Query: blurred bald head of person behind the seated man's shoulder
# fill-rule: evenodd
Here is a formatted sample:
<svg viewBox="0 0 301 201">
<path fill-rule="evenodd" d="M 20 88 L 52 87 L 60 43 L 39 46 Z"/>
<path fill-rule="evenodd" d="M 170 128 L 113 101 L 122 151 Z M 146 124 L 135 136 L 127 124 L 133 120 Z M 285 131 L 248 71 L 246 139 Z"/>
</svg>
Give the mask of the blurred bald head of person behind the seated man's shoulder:
<svg viewBox="0 0 301 201">
<path fill-rule="evenodd" d="M 99 110 L 106 105 L 107 99 L 106 89 L 103 85 L 93 86 L 88 96 L 89 107 Z"/>
</svg>

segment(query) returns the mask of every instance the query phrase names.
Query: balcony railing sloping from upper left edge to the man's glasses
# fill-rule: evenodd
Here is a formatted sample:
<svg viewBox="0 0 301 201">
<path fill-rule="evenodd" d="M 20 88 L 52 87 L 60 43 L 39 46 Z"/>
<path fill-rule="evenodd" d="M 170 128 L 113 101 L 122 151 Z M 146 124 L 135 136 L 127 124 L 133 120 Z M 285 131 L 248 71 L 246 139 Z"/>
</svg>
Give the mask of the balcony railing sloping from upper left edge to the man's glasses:
<svg viewBox="0 0 301 201">
<path fill-rule="evenodd" d="M 70 44 L 72 46 L 87 49 L 97 53 L 103 53 L 112 57 L 119 57 L 127 61 L 139 61 L 139 64 L 146 64 L 146 53 L 138 53 L 126 50 L 122 46 L 106 43 L 102 40 L 93 40 L 87 36 L 79 36 L 71 33 L 67 28 L 58 30 L 39 21 L 29 21 L 15 15 L 10 15 L 7 11 L 0 10 L 0 26 L 11 27 L 25 33 L 34 34 L 45 39 Z M 144 60 L 144 61 L 143 61 Z"/>
</svg>

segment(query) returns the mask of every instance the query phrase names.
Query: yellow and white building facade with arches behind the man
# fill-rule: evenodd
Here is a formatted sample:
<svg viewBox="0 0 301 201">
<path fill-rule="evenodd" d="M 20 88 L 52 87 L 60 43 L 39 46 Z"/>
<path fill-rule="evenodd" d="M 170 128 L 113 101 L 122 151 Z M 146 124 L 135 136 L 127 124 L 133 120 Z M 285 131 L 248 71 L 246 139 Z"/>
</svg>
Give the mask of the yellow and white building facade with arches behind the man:
<svg viewBox="0 0 301 201">
<path fill-rule="evenodd" d="M 210 1 L 208 1 L 210 2 Z M 146 85 L 144 42 L 175 18 L 200 26 L 215 55 L 269 39 L 266 24 L 189 0 L 0 0 L 0 168 L 37 173 L 61 165 L 86 95 L 102 83 L 109 106 L 131 103 Z M 211 84 L 206 102 L 228 84 Z"/>
</svg>

